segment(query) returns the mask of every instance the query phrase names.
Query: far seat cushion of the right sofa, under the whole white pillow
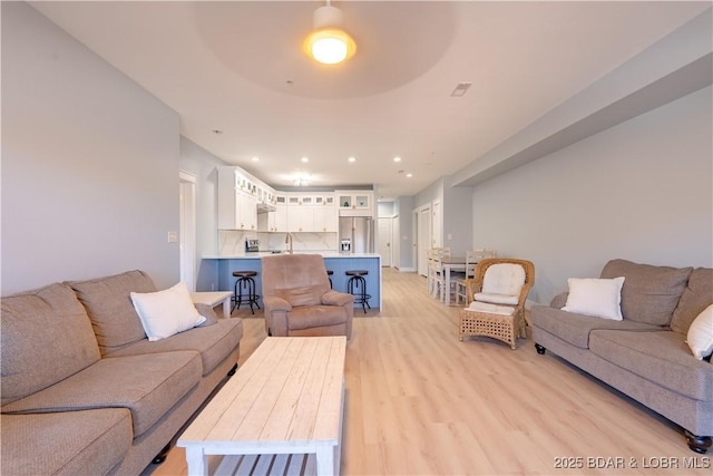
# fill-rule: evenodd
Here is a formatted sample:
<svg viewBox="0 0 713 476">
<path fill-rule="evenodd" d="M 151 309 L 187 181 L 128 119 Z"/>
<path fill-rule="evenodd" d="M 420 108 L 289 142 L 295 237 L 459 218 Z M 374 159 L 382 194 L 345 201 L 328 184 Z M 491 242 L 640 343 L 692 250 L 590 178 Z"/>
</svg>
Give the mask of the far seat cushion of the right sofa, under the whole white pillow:
<svg viewBox="0 0 713 476">
<path fill-rule="evenodd" d="M 613 321 L 609 319 L 592 318 L 589 315 L 566 312 L 547 305 L 534 305 L 530 312 L 533 326 L 546 330 L 558 338 L 580 349 L 589 347 L 590 332 L 596 329 L 617 329 L 648 333 L 660 331 L 661 327 L 644 322 Z"/>
</svg>

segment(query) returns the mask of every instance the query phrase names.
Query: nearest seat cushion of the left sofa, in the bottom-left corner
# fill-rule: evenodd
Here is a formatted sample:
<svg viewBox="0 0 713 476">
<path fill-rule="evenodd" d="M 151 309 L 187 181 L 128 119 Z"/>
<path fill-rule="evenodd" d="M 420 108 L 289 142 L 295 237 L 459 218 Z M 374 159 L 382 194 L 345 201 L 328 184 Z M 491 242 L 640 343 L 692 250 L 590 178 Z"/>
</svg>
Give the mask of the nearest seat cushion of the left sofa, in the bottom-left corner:
<svg viewBox="0 0 713 476">
<path fill-rule="evenodd" d="M 102 475 L 131 446 L 126 408 L 3 415 L 0 422 L 2 473 L 8 475 Z"/>
</svg>

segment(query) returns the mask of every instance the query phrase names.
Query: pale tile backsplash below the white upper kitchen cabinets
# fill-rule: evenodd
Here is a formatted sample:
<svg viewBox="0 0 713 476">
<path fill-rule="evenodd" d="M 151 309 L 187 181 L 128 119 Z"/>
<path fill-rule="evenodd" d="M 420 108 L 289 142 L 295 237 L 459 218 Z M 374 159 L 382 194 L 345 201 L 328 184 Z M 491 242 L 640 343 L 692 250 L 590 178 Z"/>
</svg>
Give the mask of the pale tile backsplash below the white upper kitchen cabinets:
<svg viewBox="0 0 713 476">
<path fill-rule="evenodd" d="M 244 232 L 218 230 L 218 255 L 242 256 L 245 240 L 260 240 L 260 251 L 286 251 L 286 233 Z M 338 251 L 336 233 L 292 233 L 294 251 Z"/>
</svg>

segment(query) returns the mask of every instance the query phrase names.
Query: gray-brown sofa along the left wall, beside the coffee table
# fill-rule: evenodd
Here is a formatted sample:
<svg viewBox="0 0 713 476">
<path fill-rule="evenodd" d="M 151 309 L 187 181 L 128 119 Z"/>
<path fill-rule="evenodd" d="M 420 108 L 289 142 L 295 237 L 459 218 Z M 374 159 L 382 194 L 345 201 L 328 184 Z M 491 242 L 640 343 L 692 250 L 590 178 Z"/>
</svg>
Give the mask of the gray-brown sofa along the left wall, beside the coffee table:
<svg viewBox="0 0 713 476">
<path fill-rule="evenodd" d="M 240 319 L 199 308 L 149 342 L 131 291 L 156 289 L 129 271 L 2 299 L 0 473 L 139 474 L 234 371 Z"/>
</svg>

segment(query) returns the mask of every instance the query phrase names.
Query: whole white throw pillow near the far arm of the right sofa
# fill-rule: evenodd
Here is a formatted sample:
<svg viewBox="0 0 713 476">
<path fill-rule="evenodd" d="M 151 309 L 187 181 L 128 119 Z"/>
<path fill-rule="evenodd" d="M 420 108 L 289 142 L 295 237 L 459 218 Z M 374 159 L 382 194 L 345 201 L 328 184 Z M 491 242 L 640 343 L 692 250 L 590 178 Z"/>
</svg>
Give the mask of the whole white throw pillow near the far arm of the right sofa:
<svg viewBox="0 0 713 476">
<path fill-rule="evenodd" d="M 569 278 L 569 295 L 563 311 L 621 321 L 624 276 L 606 279 Z"/>
</svg>

